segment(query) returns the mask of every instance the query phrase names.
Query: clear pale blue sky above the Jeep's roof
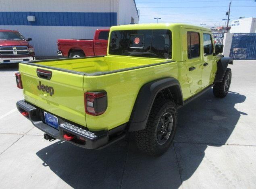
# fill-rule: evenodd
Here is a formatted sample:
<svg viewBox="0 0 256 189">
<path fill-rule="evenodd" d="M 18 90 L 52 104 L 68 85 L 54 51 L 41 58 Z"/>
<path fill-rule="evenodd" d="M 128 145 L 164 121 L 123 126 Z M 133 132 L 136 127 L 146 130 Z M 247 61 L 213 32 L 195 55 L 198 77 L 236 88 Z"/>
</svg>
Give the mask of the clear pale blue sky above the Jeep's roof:
<svg viewBox="0 0 256 189">
<path fill-rule="evenodd" d="M 230 0 L 135 0 L 139 23 L 188 23 L 224 26 Z M 240 16 L 256 17 L 255 0 L 232 0 L 230 20 Z M 231 21 L 229 21 L 231 23 Z M 230 25 L 230 24 L 229 24 Z"/>
</svg>

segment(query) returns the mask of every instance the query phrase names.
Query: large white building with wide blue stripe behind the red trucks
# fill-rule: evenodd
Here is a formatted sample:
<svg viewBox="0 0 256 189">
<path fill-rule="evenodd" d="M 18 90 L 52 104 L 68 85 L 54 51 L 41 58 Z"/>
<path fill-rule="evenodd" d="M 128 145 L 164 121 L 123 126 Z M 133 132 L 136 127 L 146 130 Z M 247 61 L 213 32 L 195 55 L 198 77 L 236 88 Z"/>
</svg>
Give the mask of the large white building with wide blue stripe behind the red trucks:
<svg viewBox="0 0 256 189">
<path fill-rule="evenodd" d="M 0 4 L 0 29 L 31 37 L 37 56 L 57 56 L 57 39 L 93 39 L 96 29 L 139 22 L 134 0 L 1 0 Z"/>
</svg>

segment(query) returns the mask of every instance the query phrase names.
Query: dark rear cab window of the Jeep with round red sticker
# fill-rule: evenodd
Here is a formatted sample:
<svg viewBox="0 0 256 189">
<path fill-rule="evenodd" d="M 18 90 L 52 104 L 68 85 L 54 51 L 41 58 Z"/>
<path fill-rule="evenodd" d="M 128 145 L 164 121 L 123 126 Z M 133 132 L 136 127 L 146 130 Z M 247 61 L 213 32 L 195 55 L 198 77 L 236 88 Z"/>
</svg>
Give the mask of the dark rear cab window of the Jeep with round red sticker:
<svg viewBox="0 0 256 189">
<path fill-rule="evenodd" d="M 147 58 L 172 58 L 171 31 L 167 29 L 112 31 L 109 54 Z"/>
</svg>

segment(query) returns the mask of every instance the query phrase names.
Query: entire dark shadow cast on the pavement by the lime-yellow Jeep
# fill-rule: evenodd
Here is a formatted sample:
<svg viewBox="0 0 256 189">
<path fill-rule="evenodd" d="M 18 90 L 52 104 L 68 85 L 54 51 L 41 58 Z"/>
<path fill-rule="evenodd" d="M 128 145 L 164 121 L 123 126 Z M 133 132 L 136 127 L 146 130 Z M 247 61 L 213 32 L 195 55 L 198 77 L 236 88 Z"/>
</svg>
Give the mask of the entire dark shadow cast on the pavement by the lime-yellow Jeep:
<svg viewBox="0 0 256 189">
<path fill-rule="evenodd" d="M 56 142 L 36 154 L 73 188 L 178 188 L 194 174 L 207 146 L 227 142 L 240 114 L 247 115 L 234 107 L 245 99 L 235 92 L 218 99 L 211 89 L 179 109 L 174 148 L 161 157 L 139 152 L 132 139 L 102 150 Z"/>
</svg>

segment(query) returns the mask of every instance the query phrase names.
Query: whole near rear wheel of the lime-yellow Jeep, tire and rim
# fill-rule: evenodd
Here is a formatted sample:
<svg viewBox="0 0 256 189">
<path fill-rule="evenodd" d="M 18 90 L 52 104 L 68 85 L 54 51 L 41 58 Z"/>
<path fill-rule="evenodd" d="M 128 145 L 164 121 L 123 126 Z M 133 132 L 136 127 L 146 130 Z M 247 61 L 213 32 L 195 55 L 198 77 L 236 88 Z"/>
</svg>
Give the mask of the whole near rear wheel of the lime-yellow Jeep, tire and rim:
<svg viewBox="0 0 256 189">
<path fill-rule="evenodd" d="M 177 107 L 173 101 L 154 103 L 145 129 L 135 132 L 137 146 L 143 152 L 160 156 L 168 150 L 177 129 Z"/>
</svg>

